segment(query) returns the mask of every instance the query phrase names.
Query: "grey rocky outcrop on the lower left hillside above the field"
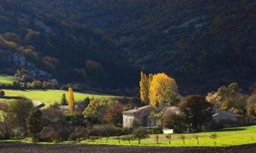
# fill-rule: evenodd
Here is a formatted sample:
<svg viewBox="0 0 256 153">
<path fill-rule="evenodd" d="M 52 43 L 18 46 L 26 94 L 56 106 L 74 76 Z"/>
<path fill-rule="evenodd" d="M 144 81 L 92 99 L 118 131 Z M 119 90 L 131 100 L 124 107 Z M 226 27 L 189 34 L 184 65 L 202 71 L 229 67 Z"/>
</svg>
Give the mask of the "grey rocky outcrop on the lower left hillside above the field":
<svg viewBox="0 0 256 153">
<path fill-rule="evenodd" d="M 51 74 L 42 71 L 30 61 L 27 61 L 23 54 L 12 51 L 0 50 L 0 73 L 14 74 L 17 69 L 26 68 L 33 78 L 39 80 L 50 80 Z"/>
</svg>

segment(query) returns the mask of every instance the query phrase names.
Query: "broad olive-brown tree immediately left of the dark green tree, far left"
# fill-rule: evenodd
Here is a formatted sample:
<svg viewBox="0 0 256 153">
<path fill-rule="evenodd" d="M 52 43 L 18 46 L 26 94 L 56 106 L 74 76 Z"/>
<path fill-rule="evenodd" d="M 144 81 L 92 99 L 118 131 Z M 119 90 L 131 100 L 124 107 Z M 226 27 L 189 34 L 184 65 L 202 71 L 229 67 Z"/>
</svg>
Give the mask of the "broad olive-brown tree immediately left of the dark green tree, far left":
<svg viewBox="0 0 256 153">
<path fill-rule="evenodd" d="M 25 97 L 11 101 L 8 105 L 8 116 L 12 118 L 14 126 L 22 128 L 24 136 L 27 136 L 27 118 L 32 108 L 32 101 Z"/>
</svg>

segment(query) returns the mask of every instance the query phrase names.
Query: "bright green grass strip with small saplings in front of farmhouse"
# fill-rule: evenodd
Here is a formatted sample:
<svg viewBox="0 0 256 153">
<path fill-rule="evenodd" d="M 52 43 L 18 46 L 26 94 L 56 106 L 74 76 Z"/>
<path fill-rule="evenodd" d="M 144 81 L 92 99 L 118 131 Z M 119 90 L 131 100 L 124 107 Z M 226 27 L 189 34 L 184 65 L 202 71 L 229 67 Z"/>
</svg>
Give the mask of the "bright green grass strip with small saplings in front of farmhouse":
<svg viewBox="0 0 256 153">
<path fill-rule="evenodd" d="M 141 146 L 215 146 L 214 140 L 209 137 L 211 133 L 216 133 L 218 135 L 216 139 L 216 146 L 238 146 L 242 144 L 256 143 L 256 126 L 243 126 L 197 133 L 196 135 L 199 135 L 199 145 L 197 145 L 197 140 L 194 138 L 194 134 L 173 134 L 171 145 L 169 145 L 169 142 L 165 138 L 165 135 L 159 135 L 160 139 L 158 144 L 156 144 L 155 135 L 150 135 L 150 138 L 141 140 Z M 181 135 L 184 135 L 186 137 L 185 145 L 180 139 Z M 70 141 L 66 143 L 77 142 Z M 128 141 L 121 140 L 119 143 L 117 138 L 109 139 L 108 143 L 106 143 L 105 138 L 102 139 L 102 142 L 97 139 L 95 142 L 86 140 L 79 143 L 138 146 L 137 140 L 130 141 L 130 143 Z"/>
</svg>

